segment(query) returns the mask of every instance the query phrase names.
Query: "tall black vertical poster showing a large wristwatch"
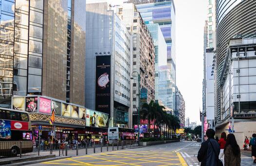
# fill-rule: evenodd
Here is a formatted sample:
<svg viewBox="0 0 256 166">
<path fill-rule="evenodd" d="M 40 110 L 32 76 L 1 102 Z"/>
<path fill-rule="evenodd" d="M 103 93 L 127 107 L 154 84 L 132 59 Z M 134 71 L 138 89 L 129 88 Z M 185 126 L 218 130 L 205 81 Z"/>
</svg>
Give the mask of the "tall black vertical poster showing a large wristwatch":
<svg viewBox="0 0 256 166">
<path fill-rule="evenodd" d="M 110 56 L 96 56 L 95 109 L 110 115 Z"/>
</svg>

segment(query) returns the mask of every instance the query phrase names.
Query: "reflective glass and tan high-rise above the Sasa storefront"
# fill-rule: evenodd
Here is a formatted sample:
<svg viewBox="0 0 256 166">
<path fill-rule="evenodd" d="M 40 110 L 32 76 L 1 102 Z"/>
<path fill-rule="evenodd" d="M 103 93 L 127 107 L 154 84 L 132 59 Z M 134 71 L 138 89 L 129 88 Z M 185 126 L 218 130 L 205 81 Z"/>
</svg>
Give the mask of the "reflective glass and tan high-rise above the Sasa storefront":
<svg viewBox="0 0 256 166">
<path fill-rule="evenodd" d="M 1 0 L 0 7 L 1 101 L 37 94 L 84 105 L 85 0 Z"/>
</svg>

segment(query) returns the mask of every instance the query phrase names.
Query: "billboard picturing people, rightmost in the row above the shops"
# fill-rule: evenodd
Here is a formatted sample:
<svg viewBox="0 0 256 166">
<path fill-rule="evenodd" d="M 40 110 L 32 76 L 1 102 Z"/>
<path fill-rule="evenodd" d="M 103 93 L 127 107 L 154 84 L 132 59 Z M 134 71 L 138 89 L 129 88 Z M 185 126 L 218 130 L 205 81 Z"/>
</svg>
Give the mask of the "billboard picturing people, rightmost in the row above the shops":
<svg viewBox="0 0 256 166">
<path fill-rule="evenodd" d="M 86 109 L 86 124 L 87 121 L 91 127 L 109 127 L 109 115 L 91 109 Z"/>
</svg>

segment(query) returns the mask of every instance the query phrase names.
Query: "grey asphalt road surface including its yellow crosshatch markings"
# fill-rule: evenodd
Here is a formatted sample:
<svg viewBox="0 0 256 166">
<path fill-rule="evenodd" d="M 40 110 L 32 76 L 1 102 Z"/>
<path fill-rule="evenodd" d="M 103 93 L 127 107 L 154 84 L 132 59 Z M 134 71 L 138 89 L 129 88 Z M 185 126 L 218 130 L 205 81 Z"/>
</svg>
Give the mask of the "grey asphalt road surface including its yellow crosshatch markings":
<svg viewBox="0 0 256 166">
<path fill-rule="evenodd" d="M 200 143 L 183 141 L 139 149 L 111 151 L 55 160 L 31 166 L 199 166 Z M 252 165 L 250 154 L 242 155 L 241 166 Z"/>
</svg>

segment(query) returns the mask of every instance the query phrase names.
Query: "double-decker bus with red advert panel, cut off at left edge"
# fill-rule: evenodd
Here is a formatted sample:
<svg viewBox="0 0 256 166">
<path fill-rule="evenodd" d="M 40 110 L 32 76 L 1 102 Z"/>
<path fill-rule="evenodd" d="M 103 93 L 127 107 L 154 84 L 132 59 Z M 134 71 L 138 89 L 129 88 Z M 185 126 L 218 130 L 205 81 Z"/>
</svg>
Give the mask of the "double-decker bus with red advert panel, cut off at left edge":
<svg viewBox="0 0 256 166">
<path fill-rule="evenodd" d="M 32 127 L 24 111 L 0 108 L 0 155 L 16 156 L 33 151 Z"/>
</svg>

